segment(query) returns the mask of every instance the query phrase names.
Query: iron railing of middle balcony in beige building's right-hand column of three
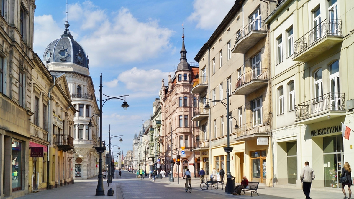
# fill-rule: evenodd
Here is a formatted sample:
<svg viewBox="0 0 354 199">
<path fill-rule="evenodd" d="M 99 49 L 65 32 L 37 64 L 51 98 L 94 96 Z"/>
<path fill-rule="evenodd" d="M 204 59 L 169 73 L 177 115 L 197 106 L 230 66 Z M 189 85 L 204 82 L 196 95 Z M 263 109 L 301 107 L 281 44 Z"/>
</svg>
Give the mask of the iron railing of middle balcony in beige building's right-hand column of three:
<svg viewBox="0 0 354 199">
<path fill-rule="evenodd" d="M 236 81 L 236 89 L 252 80 L 268 80 L 268 69 L 255 68 L 242 74 Z"/>
</svg>

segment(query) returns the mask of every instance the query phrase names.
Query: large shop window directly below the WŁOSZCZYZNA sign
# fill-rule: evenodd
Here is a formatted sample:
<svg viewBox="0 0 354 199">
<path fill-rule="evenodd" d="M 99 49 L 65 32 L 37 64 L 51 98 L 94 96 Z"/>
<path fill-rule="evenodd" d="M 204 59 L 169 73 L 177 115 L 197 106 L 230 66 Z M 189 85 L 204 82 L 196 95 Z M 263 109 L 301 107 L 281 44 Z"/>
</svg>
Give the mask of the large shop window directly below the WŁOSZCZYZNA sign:
<svg viewBox="0 0 354 199">
<path fill-rule="evenodd" d="M 325 187 L 340 188 L 338 176 L 343 165 L 342 134 L 323 137 L 323 153 Z"/>
</svg>

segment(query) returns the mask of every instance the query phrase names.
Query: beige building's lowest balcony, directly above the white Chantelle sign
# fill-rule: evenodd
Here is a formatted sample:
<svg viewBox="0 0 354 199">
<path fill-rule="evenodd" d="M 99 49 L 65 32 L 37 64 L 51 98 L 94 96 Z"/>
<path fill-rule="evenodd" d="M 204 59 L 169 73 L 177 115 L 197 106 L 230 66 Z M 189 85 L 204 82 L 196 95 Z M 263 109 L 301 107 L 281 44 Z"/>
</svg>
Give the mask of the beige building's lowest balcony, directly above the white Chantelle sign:
<svg viewBox="0 0 354 199">
<path fill-rule="evenodd" d="M 236 136 L 234 141 L 252 140 L 257 137 L 268 137 L 270 133 L 269 121 L 255 121 L 251 123 L 242 124 L 236 129 Z"/>
</svg>

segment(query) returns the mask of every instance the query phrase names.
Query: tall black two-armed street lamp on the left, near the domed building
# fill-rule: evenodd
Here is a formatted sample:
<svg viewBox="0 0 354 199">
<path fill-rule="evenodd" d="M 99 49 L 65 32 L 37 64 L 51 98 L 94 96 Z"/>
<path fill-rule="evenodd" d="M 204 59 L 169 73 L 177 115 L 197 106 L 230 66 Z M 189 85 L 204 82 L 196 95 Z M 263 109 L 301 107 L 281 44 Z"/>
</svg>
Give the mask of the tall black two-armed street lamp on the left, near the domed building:
<svg viewBox="0 0 354 199">
<path fill-rule="evenodd" d="M 102 99 L 102 95 L 108 97 L 107 99 Z M 97 116 L 99 116 L 99 146 L 95 147 L 96 151 L 99 153 L 99 168 L 98 168 L 98 182 L 97 182 L 97 188 L 96 188 L 96 195 L 104 195 L 104 188 L 103 188 L 103 174 L 102 174 L 102 153 L 106 150 L 105 146 L 102 146 L 102 107 L 104 105 L 104 103 L 110 99 L 120 99 L 123 100 L 123 104 L 121 105 L 123 107 L 124 110 L 127 110 L 127 108 L 129 107 L 128 103 L 125 101 L 126 96 L 129 95 L 122 95 L 122 96 L 118 96 L 118 97 L 112 97 L 112 96 L 108 96 L 102 93 L 102 73 L 100 76 L 100 84 L 99 84 L 99 114 L 95 114 Z M 124 99 L 123 99 L 124 97 Z M 93 115 L 93 116 L 95 116 Z M 92 123 L 91 123 L 91 119 L 90 118 L 90 122 L 89 122 L 89 127 L 92 127 Z"/>
</svg>

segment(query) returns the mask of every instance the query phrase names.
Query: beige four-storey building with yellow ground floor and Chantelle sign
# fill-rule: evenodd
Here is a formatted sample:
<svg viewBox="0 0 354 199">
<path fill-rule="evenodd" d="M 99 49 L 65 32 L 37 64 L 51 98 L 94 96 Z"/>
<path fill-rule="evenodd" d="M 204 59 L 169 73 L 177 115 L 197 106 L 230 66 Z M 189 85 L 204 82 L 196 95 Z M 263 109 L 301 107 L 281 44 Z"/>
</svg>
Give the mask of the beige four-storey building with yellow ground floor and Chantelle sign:
<svg viewBox="0 0 354 199">
<path fill-rule="evenodd" d="M 200 76 L 192 93 L 200 97 L 193 121 L 200 123 L 200 135 L 193 150 L 200 152 L 198 169 L 208 175 L 213 168 L 223 168 L 226 175 L 223 148 L 229 132 L 230 173 L 236 183 L 246 175 L 249 181 L 272 185 L 270 52 L 264 19 L 275 6 L 272 1 L 235 1 L 194 58 Z"/>
</svg>

